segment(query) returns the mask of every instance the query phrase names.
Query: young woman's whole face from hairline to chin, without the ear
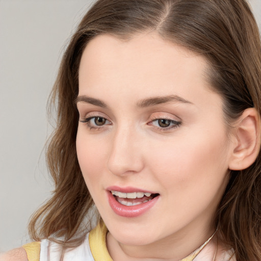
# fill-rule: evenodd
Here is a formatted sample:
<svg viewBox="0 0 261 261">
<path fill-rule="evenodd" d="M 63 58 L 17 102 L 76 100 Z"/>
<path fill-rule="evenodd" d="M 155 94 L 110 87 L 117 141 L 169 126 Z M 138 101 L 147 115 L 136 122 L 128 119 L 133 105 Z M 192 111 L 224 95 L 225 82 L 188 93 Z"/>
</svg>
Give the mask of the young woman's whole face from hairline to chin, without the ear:
<svg viewBox="0 0 261 261">
<path fill-rule="evenodd" d="M 122 244 L 210 236 L 231 145 L 207 63 L 141 34 L 91 40 L 79 71 L 77 156 L 98 211 Z"/>
</svg>

